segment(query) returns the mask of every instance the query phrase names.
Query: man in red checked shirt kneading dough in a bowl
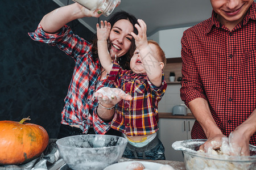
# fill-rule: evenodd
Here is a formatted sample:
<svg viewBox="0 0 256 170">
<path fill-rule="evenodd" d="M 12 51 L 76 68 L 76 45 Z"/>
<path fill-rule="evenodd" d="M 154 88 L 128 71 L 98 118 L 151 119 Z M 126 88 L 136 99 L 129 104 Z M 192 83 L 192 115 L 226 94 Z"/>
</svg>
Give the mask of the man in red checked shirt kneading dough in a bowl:
<svg viewBox="0 0 256 170">
<path fill-rule="evenodd" d="M 228 143 L 230 154 L 249 155 L 249 143 L 256 145 L 256 5 L 210 2 L 212 17 L 181 39 L 181 99 L 196 118 L 192 138 L 208 139 L 202 150 Z"/>
</svg>

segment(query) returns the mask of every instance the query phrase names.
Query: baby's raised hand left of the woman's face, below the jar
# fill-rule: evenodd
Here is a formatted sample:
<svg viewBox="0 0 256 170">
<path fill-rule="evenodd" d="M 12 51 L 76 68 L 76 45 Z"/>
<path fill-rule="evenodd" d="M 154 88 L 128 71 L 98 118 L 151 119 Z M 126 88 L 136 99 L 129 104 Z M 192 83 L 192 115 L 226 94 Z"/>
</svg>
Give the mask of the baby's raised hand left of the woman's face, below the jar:
<svg viewBox="0 0 256 170">
<path fill-rule="evenodd" d="M 97 28 L 97 39 L 98 41 L 106 41 L 109 38 L 109 33 L 111 29 L 111 24 L 107 22 L 106 20 L 103 22 L 101 20 L 101 26 L 100 24 L 96 24 Z"/>
</svg>

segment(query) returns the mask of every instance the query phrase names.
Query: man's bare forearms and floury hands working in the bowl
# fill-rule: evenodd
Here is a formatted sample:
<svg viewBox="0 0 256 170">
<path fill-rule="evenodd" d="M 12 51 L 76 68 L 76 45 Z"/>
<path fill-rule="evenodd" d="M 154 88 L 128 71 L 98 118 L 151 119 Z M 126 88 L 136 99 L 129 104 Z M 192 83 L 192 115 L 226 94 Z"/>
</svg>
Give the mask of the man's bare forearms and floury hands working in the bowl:
<svg viewBox="0 0 256 170">
<path fill-rule="evenodd" d="M 193 116 L 202 126 L 208 139 L 204 145 L 200 146 L 201 150 L 208 152 L 212 149 L 220 148 L 223 142 L 228 142 L 230 147 L 229 154 L 242 156 L 250 155 L 249 141 L 251 135 L 256 131 L 256 109 L 241 125 L 237 126 L 236 130 L 230 133 L 227 139 L 213 120 L 207 100 L 197 98 L 190 101 L 188 106 Z"/>
</svg>

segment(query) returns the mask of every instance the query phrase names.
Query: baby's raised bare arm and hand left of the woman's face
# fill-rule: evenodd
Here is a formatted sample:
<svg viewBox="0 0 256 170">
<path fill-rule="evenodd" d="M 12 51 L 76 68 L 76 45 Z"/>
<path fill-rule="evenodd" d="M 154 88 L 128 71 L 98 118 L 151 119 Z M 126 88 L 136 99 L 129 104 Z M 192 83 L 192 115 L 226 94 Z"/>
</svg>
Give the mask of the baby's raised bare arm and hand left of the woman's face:
<svg viewBox="0 0 256 170">
<path fill-rule="evenodd" d="M 96 27 L 97 27 L 97 39 L 98 39 L 97 41 L 98 57 L 100 58 L 102 67 L 104 67 L 104 69 L 109 74 L 113 66 L 112 59 L 108 50 L 108 38 L 109 38 L 111 25 L 106 21 L 105 22 L 101 21 L 101 27 L 98 23 Z"/>
</svg>

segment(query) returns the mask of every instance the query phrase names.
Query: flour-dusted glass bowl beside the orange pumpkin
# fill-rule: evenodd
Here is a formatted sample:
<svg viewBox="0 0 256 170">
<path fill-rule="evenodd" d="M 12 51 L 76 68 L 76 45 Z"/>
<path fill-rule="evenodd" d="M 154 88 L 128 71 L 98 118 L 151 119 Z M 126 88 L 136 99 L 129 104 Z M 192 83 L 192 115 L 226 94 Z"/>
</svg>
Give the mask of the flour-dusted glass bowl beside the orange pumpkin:
<svg viewBox="0 0 256 170">
<path fill-rule="evenodd" d="M 104 169 L 121 159 L 127 139 L 113 135 L 74 135 L 57 140 L 61 158 L 69 168 Z"/>
</svg>

